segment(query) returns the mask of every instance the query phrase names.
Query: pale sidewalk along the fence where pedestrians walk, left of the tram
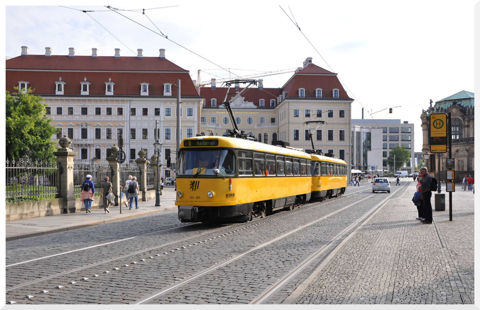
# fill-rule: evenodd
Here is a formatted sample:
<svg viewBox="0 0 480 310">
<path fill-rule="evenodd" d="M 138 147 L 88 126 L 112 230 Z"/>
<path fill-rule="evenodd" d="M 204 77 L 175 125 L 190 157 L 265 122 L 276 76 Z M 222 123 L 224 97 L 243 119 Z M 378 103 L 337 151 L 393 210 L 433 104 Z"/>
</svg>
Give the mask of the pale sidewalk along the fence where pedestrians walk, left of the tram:
<svg viewBox="0 0 480 310">
<path fill-rule="evenodd" d="M 47 217 L 28 218 L 6 222 L 6 241 L 24 239 L 34 236 L 46 235 L 49 233 L 74 230 L 89 226 L 116 222 L 119 220 L 136 218 L 148 214 L 167 211 L 177 208 L 175 206 L 174 187 L 164 187 L 160 196 L 161 207 L 155 207 L 155 199 L 151 201 L 139 201 L 139 209 L 135 209 L 135 200 L 133 200 L 132 210 L 122 205 L 109 208 L 110 213 L 105 213 L 102 209 L 93 209 L 92 213 L 76 212 L 68 214 L 58 214 Z M 122 200 L 123 203 L 124 200 Z"/>
</svg>

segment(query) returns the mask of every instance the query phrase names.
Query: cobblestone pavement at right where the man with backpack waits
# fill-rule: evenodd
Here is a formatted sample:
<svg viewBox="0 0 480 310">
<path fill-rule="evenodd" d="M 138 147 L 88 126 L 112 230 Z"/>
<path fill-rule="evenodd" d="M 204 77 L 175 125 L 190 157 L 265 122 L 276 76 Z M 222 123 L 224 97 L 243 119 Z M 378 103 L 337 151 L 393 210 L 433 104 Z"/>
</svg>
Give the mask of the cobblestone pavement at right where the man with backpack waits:
<svg viewBox="0 0 480 310">
<path fill-rule="evenodd" d="M 473 193 L 453 193 L 452 222 L 447 193 L 446 211 L 433 211 L 430 225 L 415 219 L 414 190 L 412 184 L 406 195 L 388 201 L 327 264 L 317 261 L 268 303 L 473 303 Z"/>
</svg>

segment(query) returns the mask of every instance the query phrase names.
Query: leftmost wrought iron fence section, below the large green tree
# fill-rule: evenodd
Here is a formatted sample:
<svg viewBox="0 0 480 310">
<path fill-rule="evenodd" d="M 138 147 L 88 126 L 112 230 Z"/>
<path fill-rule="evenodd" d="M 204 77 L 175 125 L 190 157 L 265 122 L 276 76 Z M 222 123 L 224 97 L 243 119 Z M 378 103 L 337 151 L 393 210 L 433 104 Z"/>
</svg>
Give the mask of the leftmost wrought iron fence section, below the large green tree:
<svg viewBox="0 0 480 310">
<path fill-rule="evenodd" d="M 32 160 L 24 156 L 6 161 L 6 197 L 56 198 L 60 191 L 58 162 Z"/>
</svg>

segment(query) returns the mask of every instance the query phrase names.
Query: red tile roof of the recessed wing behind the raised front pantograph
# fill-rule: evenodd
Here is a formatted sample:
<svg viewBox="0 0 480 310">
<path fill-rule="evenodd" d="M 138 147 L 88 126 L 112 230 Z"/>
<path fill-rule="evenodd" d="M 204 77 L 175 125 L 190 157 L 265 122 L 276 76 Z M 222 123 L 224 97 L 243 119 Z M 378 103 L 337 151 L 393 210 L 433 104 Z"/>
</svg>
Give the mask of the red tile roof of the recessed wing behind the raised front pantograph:
<svg viewBox="0 0 480 310">
<path fill-rule="evenodd" d="M 239 92 L 243 88 L 238 90 Z M 205 98 L 205 106 L 211 106 L 211 99 L 216 99 L 216 105 L 220 105 L 225 99 L 225 94 L 227 93 L 228 87 L 217 87 L 215 90 L 212 90 L 210 87 L 200 88 L 200 96 Z M 230 100 L 231 97 L 235 96 L 237 90 L 235 88 L 230 88 L 230 94 L 227 96 L 227 100 Z M 242 97 L 245 97 L 245 101 L 253 102 L 256 106 L 259 106 L 260 99 L 265 100 L 265 107 L 270 106 L 270 99 L 275 99 L 275 105 L 278 104 L 276 97 L 281 94 L 282 90 L 280 88 L 264 88 L 262 91 L 256 87 L 249 89 L 248 91 L 241 94 Z"/>
</svg>

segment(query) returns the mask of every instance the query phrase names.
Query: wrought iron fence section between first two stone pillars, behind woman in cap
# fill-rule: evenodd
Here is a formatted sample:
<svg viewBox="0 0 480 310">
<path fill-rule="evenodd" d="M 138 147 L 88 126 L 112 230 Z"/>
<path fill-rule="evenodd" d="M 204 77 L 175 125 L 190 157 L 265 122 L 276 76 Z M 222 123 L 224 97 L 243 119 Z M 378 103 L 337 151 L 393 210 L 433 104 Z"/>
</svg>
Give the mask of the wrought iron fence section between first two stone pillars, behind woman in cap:
<svg viewBox="0 0 480 310">
<path fill-rule="evenodd" d="M 95 196 L 99 196 L 104 178 L 108 176 L 109 182 L 112 181 L 113 168 L 111 166 L 96 165 L 93 161 L 89 165 L 73 165 L 73 194 L 75 198 L 80 198 L 82 184 L 86 180 L 87 174 L 92 176 L 95 188 Z"/>
</svg>

